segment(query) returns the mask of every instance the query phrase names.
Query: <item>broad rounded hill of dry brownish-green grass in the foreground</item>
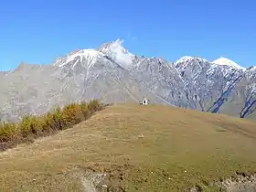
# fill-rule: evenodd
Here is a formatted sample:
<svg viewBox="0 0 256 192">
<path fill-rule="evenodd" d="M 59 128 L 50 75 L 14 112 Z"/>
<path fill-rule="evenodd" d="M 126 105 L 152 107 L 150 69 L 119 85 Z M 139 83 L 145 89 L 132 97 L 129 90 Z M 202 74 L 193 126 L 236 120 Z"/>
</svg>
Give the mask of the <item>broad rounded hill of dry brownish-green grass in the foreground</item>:
<svg viewBox="0 0 256 192">
<path fill-rule="evenodd" d="M 0 153 L 0 191 L 217 191 L 213 181 L 256 172 L 255 146 L 249 120 L 110 106 L 72 129 Z"/>
</svg>

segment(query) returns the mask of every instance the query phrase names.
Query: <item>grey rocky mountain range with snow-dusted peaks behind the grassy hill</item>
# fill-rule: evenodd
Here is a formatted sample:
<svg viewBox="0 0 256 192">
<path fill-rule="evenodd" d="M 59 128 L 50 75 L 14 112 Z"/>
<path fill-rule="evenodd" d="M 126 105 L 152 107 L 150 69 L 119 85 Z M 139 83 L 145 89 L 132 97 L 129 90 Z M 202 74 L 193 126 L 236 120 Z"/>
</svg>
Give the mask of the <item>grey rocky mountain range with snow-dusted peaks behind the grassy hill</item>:
<svg viewBox="0 0 256 192">
<path fill-rule="evenodd" d="M 22 63 L 0 72 L 0 119 L 48 112 L 73 101 L 151 102 L 256 118 L 256 67 L 229 59 L 174 63 L 130 53 L 117 40 L 81 49 L 50 65 Z"/>
</svg>

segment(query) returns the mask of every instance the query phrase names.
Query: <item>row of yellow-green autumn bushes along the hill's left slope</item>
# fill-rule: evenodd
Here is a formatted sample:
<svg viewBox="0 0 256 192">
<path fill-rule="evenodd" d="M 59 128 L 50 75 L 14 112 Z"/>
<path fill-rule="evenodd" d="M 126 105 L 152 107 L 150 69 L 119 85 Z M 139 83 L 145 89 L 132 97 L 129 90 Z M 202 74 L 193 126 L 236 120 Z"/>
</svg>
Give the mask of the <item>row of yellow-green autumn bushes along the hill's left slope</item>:
<svg viewBox="0 0 256 192">
<path fill-rule="evenodd" d="M 103 108 L 104 106 L 96 100 L 89 103 L 69 103 L 43 115 L 25 116 L 19 123 L 0 123 L 0 151 L 16 144 L 32 143 L 38 137 L 69 129 Z"/>
</svg>

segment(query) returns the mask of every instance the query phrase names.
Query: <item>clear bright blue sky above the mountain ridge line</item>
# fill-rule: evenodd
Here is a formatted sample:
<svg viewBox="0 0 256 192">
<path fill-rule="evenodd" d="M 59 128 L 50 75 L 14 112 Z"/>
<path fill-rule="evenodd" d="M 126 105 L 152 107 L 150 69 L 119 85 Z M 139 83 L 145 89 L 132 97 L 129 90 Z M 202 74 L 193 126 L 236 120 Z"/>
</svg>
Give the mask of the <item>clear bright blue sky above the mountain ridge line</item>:
<svg viewBox="0 0 256 192">
<path fill-rule="evenodd" d="M 0 70 L 49 64 L 122 38 L 130 52 L 256 65 L 255 0 L 9 0 L 0 4 Z"/>
</svg>

